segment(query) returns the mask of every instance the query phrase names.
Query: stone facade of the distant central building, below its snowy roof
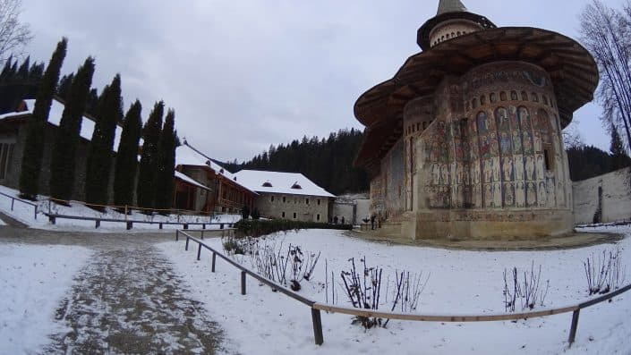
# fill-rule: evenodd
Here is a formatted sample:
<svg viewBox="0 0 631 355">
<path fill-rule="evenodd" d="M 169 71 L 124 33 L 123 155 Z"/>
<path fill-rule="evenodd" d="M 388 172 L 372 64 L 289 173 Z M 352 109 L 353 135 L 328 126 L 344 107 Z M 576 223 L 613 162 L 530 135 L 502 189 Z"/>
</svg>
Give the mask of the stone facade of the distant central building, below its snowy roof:
<svg viewBox="0 0 631 355">
<path fill-rule="evenodd" d="M 254 202 L 260 216 L 306 222 L 328 222 L 328 198 L 259 192 Z"/>
</svg>

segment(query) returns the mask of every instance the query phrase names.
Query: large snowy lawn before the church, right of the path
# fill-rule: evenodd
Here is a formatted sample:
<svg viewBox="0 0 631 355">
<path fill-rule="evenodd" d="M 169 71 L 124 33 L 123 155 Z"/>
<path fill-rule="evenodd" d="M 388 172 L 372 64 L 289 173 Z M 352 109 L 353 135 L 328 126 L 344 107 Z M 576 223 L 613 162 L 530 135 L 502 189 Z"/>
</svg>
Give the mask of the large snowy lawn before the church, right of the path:
<svg viewBox="0 0 631 355">
<path fill-rule="evenodd" d="M 349 306 L 339 274 L 348 270 L 349 258 L 364 256 L 369 266 L 383 267 L 389 275 L 388 300 L 392 299 L 396 270 L 431 275 L 422 293 L 417 313 L 475 315 L 505 312 L 503 272 L 513 266 L 522 272 L 541 265 L 542 282 L 550 280 L 543 308 L 552 309 L 588 300 L 583 262 L 602 250 L 619 248 L 627 271 L 631 262 L 631 228 L 610 227 L 590 231 L 624 232 L 618 244 L 603 244 L 583 249 L 550 251 L 463 251 L 410 246 L 389 246 L 352 238 L 338 231 L 302 231 L 279 234 L 265 242 L 284 241 L 303 250 L 321 251 L 315 280 L 303 281 L 300 292 L 311 300 L 325 301 L 325 259 L 328 274 L 335 272 L 339 294 L 337 305 Z M 220 239 L 207 239 L 216 248 Z M 211 317 L 226 329 L 229 347 L 241 353 L 398 353 L 398 354 L 629 354 L 631 353 L 631 293 L 604 302 L 580 315 L 576 342 L 567 346 L 571 313 L 519 320 L 442 324 L 391 321 L 388 328 L 364 331 L 351 325 L 352 317 L 322 313 L 324 344 L 314 345 L 311 310 L 278 292 L 271 292 L 248 278 L 247 295 L 240 294 L 239 271 L 217 258 L 217 273 L 210 272 L 210 254 L 197 248 L 184 251 L 183 241 L 158 245 L 171 258 Z M 252 267 L 249 258 L 241 260 Z M 631 282 L 627 277 L 626 283 Z M 330 283 L 329 283 L 330 287 Z M 385 287 L 385 282 L 384 282 Z M 330 291 L 330 290 L 329 290 Z M 381 299 L 386 296 L 382 290 Z M 538 306 L 537 309 L 543 309 Z M 387 304 L 379 309 L 388 310 Z M 536 310 L 536 309 L 535 309 Z"/>
</svg>

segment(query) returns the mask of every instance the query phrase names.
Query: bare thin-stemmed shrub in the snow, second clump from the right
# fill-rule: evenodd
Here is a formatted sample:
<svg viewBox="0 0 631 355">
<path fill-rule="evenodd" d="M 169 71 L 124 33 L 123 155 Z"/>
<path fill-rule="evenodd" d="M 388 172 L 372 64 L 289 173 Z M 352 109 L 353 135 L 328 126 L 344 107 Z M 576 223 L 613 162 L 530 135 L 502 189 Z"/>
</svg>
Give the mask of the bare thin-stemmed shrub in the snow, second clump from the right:
<svg viewBox="0 0 631 355">
<path fill-rule="evenodd" d="M 519 301 L 521 309 L 534 309 L 537 304 L 543 306 L 550 280 L 545 282 L 545 289 L 541 285 L 541 265 L 535 272 L 534 261 L 530 266 L 530 273 L 524 271 L 524 276 L 513 267 L 510 272 L 504 269 L 504 309 L 507 312 L 515 312 L 516 303 Z"/>
</svg>

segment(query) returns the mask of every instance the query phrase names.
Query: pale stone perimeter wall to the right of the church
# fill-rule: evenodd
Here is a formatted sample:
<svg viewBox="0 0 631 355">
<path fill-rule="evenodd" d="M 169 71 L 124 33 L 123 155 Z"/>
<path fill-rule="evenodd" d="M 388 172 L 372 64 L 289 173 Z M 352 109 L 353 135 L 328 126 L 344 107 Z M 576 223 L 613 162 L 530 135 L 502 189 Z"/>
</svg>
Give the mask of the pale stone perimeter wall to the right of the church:
<svg viewBox="0 0 631 355">
<path fill-rule="evenodd" d="M 631 219 L 631 168 L 574 182 L 576 224 L 608 223 Z"/>
</svg>

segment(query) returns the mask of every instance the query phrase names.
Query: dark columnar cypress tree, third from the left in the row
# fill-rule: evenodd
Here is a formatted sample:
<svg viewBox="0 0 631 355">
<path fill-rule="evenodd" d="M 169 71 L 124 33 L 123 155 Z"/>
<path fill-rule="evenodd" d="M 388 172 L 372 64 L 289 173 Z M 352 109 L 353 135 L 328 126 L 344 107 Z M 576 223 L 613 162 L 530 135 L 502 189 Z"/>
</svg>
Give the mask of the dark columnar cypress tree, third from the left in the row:
<svg viewBox="0 0 631 355">
<path fill-rule="evenodd" d="M 97 123 L 94 125 L 94 132 L 90 141 L 85 199 L 91 204 L 107 204 L 116 123 L 123 116 L 121 106 L 121 76 L 116 74 L 112 83 L 103 90 L 98 100 Z"/>
</svg>

